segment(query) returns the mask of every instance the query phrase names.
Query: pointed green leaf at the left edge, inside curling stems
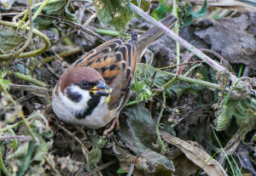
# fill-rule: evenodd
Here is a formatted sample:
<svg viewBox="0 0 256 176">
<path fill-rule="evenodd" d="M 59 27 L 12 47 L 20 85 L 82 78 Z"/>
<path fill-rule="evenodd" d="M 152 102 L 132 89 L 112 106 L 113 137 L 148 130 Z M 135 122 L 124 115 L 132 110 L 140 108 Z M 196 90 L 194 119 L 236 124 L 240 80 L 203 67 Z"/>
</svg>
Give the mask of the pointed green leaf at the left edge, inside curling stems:
<svg viewBox="0 0 256 176">
<path fill-rule="evenodd" d="M 3 54 L 9 54 L 25 42 L 26 37 L 22 36 L 18 31 L 3 26 L 0 27 L 0 51 Z"/>
</svg>

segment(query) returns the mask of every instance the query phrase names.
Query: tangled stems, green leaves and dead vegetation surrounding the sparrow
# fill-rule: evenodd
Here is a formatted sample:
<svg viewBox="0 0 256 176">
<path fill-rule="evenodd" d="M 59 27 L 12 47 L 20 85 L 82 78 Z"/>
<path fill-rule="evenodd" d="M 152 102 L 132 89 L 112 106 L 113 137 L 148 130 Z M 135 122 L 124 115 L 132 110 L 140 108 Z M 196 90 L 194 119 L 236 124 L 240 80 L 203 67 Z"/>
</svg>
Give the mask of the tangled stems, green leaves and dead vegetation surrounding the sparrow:
<svg viewBox="0 0 256 176">
<path fill-rule="evenodd" d="M 131 3 L 0 2 L 1 175 L 256 175 L 255 3 Z M 139 64 L 119 131 L 58 120 L 68 65 L 125 27 L 160 26 L 137 6 L 179 20 Z"/>
</svg>

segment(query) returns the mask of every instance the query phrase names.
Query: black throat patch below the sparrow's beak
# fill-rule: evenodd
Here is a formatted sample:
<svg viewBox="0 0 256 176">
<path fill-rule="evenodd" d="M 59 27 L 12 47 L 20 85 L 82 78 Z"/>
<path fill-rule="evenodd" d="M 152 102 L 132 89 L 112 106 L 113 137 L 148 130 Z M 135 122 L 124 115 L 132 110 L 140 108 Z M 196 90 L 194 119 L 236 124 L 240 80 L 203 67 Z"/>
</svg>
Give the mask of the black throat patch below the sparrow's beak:
<svg viewBox="0 0 256 176">
<path fill-rule="evenodd" d="M 84 111 L 75 112 L 75 117 L 78 119 L 85 119 L 86 116 L 90 116 L 92 111 L 96 108 L 96 106 L 100 103 L 101 96 L 95 96 L 90 94 L 91 99 L 88 101 L 88 108 Z"/>
</svg>

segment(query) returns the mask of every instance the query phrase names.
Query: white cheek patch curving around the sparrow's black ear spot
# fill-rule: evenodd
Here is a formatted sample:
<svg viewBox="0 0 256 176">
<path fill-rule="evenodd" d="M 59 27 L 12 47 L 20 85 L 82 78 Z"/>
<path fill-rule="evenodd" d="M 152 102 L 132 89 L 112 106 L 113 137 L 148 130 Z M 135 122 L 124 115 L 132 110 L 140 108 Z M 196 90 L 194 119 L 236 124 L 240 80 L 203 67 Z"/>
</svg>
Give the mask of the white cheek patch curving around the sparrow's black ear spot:
<svg viewBox="0 0 256 176">
<path fill-rule="evenodd" d="M 87 102 L 90 97 L 90 91 L 84 90 L 79 88 L 76 85 L 71 85 L 70 90 L 73 93 L 78 93 L 82 95 L 82 99 L 79 102 L 74 102 L 71 99 L 67 98 L 67 90 L 64 91 L 64 94 L 61 93 L 60 88 L 59 88 L 59 97 L 61 99 L 61 102 L 64 102 L 64 104 L 67 106 L 67 108 L 73 110 L 73 111 L 82 111 L 87 108 Z"/>
</svg>

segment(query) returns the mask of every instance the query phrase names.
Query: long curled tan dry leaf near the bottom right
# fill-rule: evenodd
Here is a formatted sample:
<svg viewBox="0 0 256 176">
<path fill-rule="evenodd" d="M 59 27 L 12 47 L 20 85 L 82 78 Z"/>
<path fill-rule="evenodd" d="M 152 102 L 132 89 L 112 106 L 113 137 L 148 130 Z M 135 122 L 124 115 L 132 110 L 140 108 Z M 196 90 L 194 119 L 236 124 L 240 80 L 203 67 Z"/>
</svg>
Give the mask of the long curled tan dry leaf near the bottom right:
<svg viewBox="0 0 256 176">
<path fill-rule="evenodd" d="M 224 168 L 214 159 L 211 158 L 206 151 L 201 150 L 193 145 L 189 145 L 186 141 L 178 139 L 166 132 L 160 131 L 160 137 L 165 139 L 167 143 L 177 146 L 183 151 L 185 156 L 189 158 L 191 162 L 194 162 L 197 166 L 203 167 L 204 171 L 210 176 L 227 176 Z M 207 164 L 206 164 L 207 163 Z M 206 164 L 206 166 L 205 166 Z"/>
</svg>

